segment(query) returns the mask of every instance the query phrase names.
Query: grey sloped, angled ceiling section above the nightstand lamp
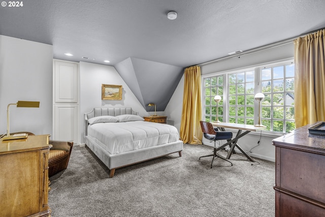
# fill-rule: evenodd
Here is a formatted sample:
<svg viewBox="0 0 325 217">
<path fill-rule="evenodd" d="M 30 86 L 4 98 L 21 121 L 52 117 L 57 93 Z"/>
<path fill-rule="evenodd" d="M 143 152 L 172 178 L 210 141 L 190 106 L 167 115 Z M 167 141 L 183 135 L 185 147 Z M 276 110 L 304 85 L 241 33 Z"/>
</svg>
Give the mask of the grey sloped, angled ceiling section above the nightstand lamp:
<svg viewBox="0 0 325 217">
<path fill-rule="evenodd" d="M 129 57 L 115 66 L 146 111 L 165 111 L 182 75 L 183 68 Z M 182 102 L 180 102 L 182 103 Z"/>
</svg>

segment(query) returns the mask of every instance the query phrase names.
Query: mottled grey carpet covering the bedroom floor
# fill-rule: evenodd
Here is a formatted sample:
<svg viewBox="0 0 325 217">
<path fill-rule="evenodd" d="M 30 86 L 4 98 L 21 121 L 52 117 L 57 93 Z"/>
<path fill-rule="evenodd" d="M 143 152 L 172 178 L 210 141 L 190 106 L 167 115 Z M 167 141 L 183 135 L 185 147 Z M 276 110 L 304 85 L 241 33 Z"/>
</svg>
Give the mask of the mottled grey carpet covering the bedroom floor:
<svg viewBox="0 0 325 217">
<path fill-rule="evenodd" d="M 234 166 L 215 159 L 210 169 L 212 157 L 199 157 L 212 150 L 184 144 L 181 158 L 170 154 L 109 178 L 87 147 L 75 146 L 68 169 L 50 177 L 52 216 L 274 216 L 275 163 L 252 166 L 233 154 Z"/>
</svg>

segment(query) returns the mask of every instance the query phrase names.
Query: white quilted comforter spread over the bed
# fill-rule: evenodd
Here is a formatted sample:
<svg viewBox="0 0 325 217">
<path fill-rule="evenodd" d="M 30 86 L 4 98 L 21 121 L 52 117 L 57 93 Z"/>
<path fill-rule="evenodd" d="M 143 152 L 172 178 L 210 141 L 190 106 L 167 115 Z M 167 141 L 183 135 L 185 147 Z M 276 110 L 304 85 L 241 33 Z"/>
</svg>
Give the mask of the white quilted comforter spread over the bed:
<svg viewBox="0 0 325 217">
<path fill-rule="evenodd" d="M 94 123 L 88 136 L 111 154 L 178 141 L 177 129 L 171 125 L 147 121 Z"/>
</svg>

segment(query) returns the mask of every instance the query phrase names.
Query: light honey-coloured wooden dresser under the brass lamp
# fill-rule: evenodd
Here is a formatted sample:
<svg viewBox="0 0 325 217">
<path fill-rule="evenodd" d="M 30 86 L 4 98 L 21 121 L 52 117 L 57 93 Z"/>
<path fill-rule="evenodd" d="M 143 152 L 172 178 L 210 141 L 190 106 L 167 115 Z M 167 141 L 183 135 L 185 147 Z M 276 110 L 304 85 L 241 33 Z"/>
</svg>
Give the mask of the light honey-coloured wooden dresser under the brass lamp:
<svg viewBox="0 0 325 217">
<path fill-rule="evenodd" d="M 50 216 L 49 135 L 0 139 L 0 216 Z"/>
</svg>

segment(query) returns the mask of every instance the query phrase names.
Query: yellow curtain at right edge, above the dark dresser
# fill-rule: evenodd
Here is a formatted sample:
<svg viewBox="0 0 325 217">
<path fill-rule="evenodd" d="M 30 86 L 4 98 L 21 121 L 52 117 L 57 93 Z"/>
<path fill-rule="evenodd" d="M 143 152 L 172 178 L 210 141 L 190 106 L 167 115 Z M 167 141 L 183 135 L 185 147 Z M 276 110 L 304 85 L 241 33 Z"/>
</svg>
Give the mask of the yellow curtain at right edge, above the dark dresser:
<svg viewBox="0 0 325 217">
<path fill-rule="evenodd" d="M 325 29 L 298 38 L 295 44 L 296 128 L 325 121 Z"/>
</svg>

